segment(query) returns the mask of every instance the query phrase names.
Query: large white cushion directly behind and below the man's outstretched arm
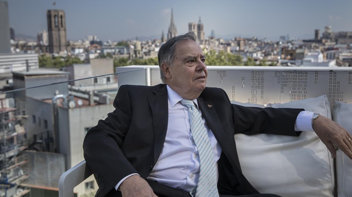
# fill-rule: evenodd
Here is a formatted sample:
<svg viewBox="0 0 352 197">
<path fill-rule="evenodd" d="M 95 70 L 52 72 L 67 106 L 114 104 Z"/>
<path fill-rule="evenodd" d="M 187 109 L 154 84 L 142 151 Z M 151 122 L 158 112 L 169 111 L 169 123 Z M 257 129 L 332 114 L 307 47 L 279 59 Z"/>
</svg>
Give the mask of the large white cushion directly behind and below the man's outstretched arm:
<svg viewBox="0 0 352 197">
<path fill-rule="evenodd" d="M 252 103 L 242 105 L 264 107 Z M 325 95 L 266 107 L 303 108 L 331 118 Z M 333 159 L 314 132 L 303 131 L 299 137 L 236 134 L 235 140 L 242 172 L 260 193 L 283 197 L 333 196 Z"/>
</svg>

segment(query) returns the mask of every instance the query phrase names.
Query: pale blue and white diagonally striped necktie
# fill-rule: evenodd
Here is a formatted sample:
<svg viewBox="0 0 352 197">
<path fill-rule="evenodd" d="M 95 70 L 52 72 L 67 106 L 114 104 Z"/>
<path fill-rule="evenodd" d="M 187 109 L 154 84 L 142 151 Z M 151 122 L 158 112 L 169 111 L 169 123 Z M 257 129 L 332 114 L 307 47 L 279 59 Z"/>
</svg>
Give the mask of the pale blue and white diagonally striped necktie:
<svg viewBox="0 0 352 197">
<path fill-rule="evenodd" d="M 192 100 L 182 99 L 180 103 L 188 107 L 191 133 L 198 148 L 200 161 L 198 183 L 191 189 L 190 194 L 195 197 L 219 197 L 213 148 L 202 117 Z"/>
</svg>

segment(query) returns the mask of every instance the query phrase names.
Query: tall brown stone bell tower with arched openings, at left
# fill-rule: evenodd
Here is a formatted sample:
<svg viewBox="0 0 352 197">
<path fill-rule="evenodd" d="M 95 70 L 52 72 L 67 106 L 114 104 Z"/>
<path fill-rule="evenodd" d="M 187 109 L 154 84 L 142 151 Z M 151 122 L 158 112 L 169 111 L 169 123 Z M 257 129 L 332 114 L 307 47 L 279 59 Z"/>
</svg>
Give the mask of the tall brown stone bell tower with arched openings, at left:
<svg viewBox="0 0 352 197">
<path fill-rule="evenodd" d="M 51 9 L 46 13 L 48 19 L 49 53 L 66 50 L 66 19 L 63 10 Z"/>
</svg>

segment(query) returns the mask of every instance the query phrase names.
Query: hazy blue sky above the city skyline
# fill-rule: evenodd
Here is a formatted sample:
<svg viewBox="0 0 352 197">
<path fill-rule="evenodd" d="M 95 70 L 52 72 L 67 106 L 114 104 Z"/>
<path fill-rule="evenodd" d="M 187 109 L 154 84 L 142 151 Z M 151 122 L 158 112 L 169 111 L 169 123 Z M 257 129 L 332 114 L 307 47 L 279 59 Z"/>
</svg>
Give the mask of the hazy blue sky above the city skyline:
<svg viewBox="0 0 352 197">
<path fill-rule="evenodd" d="M 314 29 L 331 25 L 334 32 L 352 31 L 351 0 L 8 0 L 10 26 L 15 33 L 35 36 L 46 27 L 46 10 L 63 9 L 67 39 L 97 35 L 100 40 L 161 36 L 170 24 L 171 8 L 178 34 L 201 16 L 205 34 L 258 36 L 278 40 L 313 38 Z"/>
</svg>

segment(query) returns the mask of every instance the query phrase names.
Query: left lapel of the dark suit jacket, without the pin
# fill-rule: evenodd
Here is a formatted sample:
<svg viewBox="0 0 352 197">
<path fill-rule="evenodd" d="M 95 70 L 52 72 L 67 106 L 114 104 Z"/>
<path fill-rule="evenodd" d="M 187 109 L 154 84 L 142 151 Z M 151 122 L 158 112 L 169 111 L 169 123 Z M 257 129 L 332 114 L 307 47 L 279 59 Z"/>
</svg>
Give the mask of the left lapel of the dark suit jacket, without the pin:
<svg viewBox="0 0 352 197">
<path fill-rule="evenodd" d="M 154 128 L 154 164 L 158 161 L 168 129 L 168 92 L 166 85 L 148 95 L 149 106 L 152 110 Z"/>
</svg>

